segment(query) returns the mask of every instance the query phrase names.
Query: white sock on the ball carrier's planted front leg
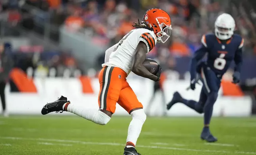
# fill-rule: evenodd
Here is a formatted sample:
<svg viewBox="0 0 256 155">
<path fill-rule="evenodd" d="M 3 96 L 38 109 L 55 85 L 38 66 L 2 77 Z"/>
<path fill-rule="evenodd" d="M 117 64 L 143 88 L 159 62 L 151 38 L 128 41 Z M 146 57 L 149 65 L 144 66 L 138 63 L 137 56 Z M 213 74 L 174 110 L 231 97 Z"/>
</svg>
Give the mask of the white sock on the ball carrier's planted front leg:
<svg viewBox="0 0 256 155">
<path fill-rule="evenodd" d="M 128 136 L 126 139 L 126 147 L 135 147 L 140 136 L 142 126 L 147 118 L 143 109 L 135 110 L 131 113 L 132 121 L 128 128 Z"/>
</svg>

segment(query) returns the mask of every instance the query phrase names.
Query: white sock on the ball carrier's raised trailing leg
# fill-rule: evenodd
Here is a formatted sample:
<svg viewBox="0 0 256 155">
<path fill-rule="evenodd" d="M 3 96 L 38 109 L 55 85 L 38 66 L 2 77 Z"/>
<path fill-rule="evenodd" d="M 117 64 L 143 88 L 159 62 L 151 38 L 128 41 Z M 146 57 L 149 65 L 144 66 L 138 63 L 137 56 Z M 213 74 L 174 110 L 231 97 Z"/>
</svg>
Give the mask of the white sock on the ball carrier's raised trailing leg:
<svg viewBox="0 0 256 155">
<path fill-rule="evenodd" d="M 66 107 L 66 111 L 72 112 L 96 124 L 106 125 L 111 119 L 111 117 L 109 117 L 106 113 L 101 112 L 100 110 L 85 108 L 83 106 L 73 103 L 69 104 L 69 102 L 66 104 L 68 104 L 68 106 Z M 63 109 L 66 106 L 66 104 L 63 105 Z"/>
</svg>

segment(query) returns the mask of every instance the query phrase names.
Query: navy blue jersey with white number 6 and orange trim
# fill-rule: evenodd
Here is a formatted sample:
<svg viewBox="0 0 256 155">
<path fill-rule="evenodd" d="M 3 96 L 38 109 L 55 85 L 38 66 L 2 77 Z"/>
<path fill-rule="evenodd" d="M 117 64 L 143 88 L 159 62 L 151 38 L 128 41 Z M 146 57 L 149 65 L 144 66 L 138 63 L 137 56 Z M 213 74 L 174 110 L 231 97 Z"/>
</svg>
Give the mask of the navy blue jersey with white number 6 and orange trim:
<svg viewBox="0 0 256 155">
<path fill-rule="evenodd" d="M 198 62 L 207 55 L 207 66 L 221 77 L 229 68 L 231 62 L 235 61 L 235 71 L 240 72 L 242 64 L 242 46 L 244 39 L 234 34 L 227 42 L 222 43 L 214 34 L 202 36 L 202 46 L 195 52 L 190 66 L 191 79 L 196 77 Z"/>
</svg>

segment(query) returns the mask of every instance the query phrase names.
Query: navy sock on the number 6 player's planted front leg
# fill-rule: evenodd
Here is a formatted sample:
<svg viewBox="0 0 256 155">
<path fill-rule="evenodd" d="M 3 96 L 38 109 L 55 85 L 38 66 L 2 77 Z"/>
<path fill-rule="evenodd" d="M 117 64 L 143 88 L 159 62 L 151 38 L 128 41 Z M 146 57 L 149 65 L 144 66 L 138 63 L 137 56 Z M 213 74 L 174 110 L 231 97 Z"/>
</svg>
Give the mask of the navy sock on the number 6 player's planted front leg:
<svg viewBox="0 0 256 155">
<path fill-rule="evenodd" d="M 211 121 L 211 115 L 213 111 L 213 104 L 217 100 L 217 93 L 212 92 L 208 95 L 208 98 L 206 100 L 206 104 L 204 106 L 204 125 L 210 124 Z"/>
</svg>

